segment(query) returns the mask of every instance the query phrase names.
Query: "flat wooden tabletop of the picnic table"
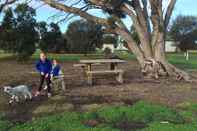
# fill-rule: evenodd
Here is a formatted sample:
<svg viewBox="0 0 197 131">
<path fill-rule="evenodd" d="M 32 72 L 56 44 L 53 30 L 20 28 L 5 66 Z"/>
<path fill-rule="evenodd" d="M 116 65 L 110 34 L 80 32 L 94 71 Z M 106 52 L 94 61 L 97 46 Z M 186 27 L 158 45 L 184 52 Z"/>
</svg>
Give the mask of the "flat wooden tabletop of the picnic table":
<svg viewBox="0 0 197 131">
<path fill-rule="evenodd" d="M 80 63 L 83 64 L 92 64 L 92 63 L 125 63 L 125 60 L 120 59 L 95 59 L 95 60 L 80 60 Z"/>
</svg>

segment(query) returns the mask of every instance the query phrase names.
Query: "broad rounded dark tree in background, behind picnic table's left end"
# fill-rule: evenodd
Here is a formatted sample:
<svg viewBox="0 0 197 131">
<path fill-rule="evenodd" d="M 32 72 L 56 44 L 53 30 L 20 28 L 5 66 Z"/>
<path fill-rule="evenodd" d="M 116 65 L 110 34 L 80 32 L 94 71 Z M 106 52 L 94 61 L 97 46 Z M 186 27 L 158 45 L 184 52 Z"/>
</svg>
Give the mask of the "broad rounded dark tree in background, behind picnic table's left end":
<svg viewBox="0 0 197 131">
<path fill-rule="evenodd" d="M 96 47 L 102 47 L 102 29 L 100 25 L 86 20 L 77 20 L 68 26 L 65 34 L 69 52 L 91 53 Z"/>
</svg>

